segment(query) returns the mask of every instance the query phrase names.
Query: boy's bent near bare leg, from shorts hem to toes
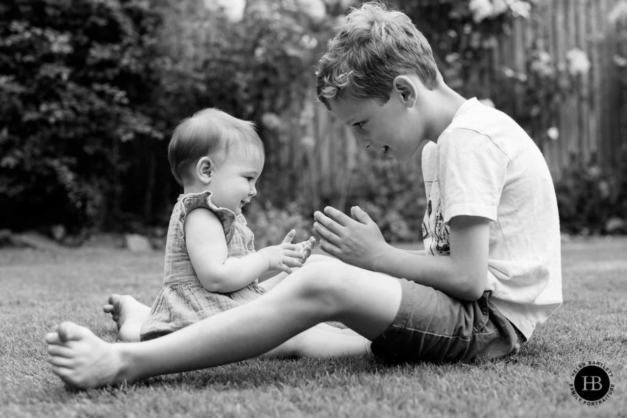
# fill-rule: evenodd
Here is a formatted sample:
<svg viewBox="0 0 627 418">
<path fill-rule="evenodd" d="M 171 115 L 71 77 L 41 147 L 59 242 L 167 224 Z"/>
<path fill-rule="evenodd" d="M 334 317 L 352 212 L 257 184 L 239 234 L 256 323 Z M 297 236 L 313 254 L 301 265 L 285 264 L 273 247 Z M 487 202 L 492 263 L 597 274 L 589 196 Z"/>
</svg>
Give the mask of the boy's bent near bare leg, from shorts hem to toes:
<svg viewBox="0 0 627 418">
<path fill-rule="evenodd" d="M 213 367 L 269 352 L 317 323 L 345 323 L 369 340 L 394 320 L 398 280 L 347 264 L 316 263 L 266 295 L 161 338 L 108 344 L 63 323 L 46 335 L 53 371 L 73 387 Z"/>
</svg>

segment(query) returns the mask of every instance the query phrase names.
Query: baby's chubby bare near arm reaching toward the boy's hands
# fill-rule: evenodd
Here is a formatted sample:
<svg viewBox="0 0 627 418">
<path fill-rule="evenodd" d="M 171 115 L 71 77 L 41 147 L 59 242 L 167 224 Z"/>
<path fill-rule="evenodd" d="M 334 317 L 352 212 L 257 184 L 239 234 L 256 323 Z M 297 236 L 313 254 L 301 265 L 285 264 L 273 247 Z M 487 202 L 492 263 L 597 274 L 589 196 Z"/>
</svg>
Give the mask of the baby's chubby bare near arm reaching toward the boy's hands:
<svg viewBox="0 0 627 418">
<path fill-rule="evenodd" d="M 185 243 L 198 280 L 208 291 L 226 293 L 243 288 L 270 269 L 290 272 L 302 266 L 294 244 L 282 243 L 243 258 L 228 258 L 224 230 L 208 209 L 194 209 L 186 217 Z"/>
</svg>

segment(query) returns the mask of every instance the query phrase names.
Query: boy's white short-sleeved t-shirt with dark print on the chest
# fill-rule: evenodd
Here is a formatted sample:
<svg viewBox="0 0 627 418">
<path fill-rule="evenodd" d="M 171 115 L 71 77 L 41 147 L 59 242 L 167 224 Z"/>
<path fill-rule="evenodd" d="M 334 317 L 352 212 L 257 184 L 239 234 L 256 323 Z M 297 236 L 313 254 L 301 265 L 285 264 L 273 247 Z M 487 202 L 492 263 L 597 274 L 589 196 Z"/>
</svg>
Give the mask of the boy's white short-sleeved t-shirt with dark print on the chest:
<svg viewBox="0 0 627 418">
<path fill-rule="evenodd" d="M 490 301 L 529 339 L 562 303 L 557 199 L 549 168 L 512 118 L 476 98 L 422 155 L 427 256 L 448 256 L 448 222 L 490 219 Z"/>
</svg>

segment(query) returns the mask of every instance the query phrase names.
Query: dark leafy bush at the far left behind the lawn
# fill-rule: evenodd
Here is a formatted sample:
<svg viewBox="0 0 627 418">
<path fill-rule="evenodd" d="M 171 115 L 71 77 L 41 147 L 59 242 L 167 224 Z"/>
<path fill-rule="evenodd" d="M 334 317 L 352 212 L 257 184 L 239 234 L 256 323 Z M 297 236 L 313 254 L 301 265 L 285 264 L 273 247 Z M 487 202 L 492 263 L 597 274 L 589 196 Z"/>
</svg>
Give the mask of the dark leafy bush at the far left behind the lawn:
<svg viewBox="0 0 627 418">
<path fill-rule="evenodd" d="M 124 142 L 161 138 L 159 16 L 132 0 L 0 5 L 0 227 L 98 226 L 119 209 Z"/>
</svg>

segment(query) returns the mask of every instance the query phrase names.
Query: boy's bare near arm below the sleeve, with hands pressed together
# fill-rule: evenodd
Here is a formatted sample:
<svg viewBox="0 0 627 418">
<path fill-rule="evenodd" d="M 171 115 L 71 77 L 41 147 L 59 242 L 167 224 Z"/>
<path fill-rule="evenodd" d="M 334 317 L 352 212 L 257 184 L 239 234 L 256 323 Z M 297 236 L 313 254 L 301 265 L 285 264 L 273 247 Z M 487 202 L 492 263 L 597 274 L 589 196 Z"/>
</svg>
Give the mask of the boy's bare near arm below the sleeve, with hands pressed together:
<svg viewBox="0 0 627 418">
<path fill-rule="evenodd" d="M 426 257 L 385 242 L 366 212 L 354 207 L 356 219 L 327 207 L 316 212 L 320 248 L 347 263 L 431 286 L 460 300 L 477 300 L 488 272 L 489 220 L 456 216 L 449 223 L 449 257 Z"/>
</svg>

